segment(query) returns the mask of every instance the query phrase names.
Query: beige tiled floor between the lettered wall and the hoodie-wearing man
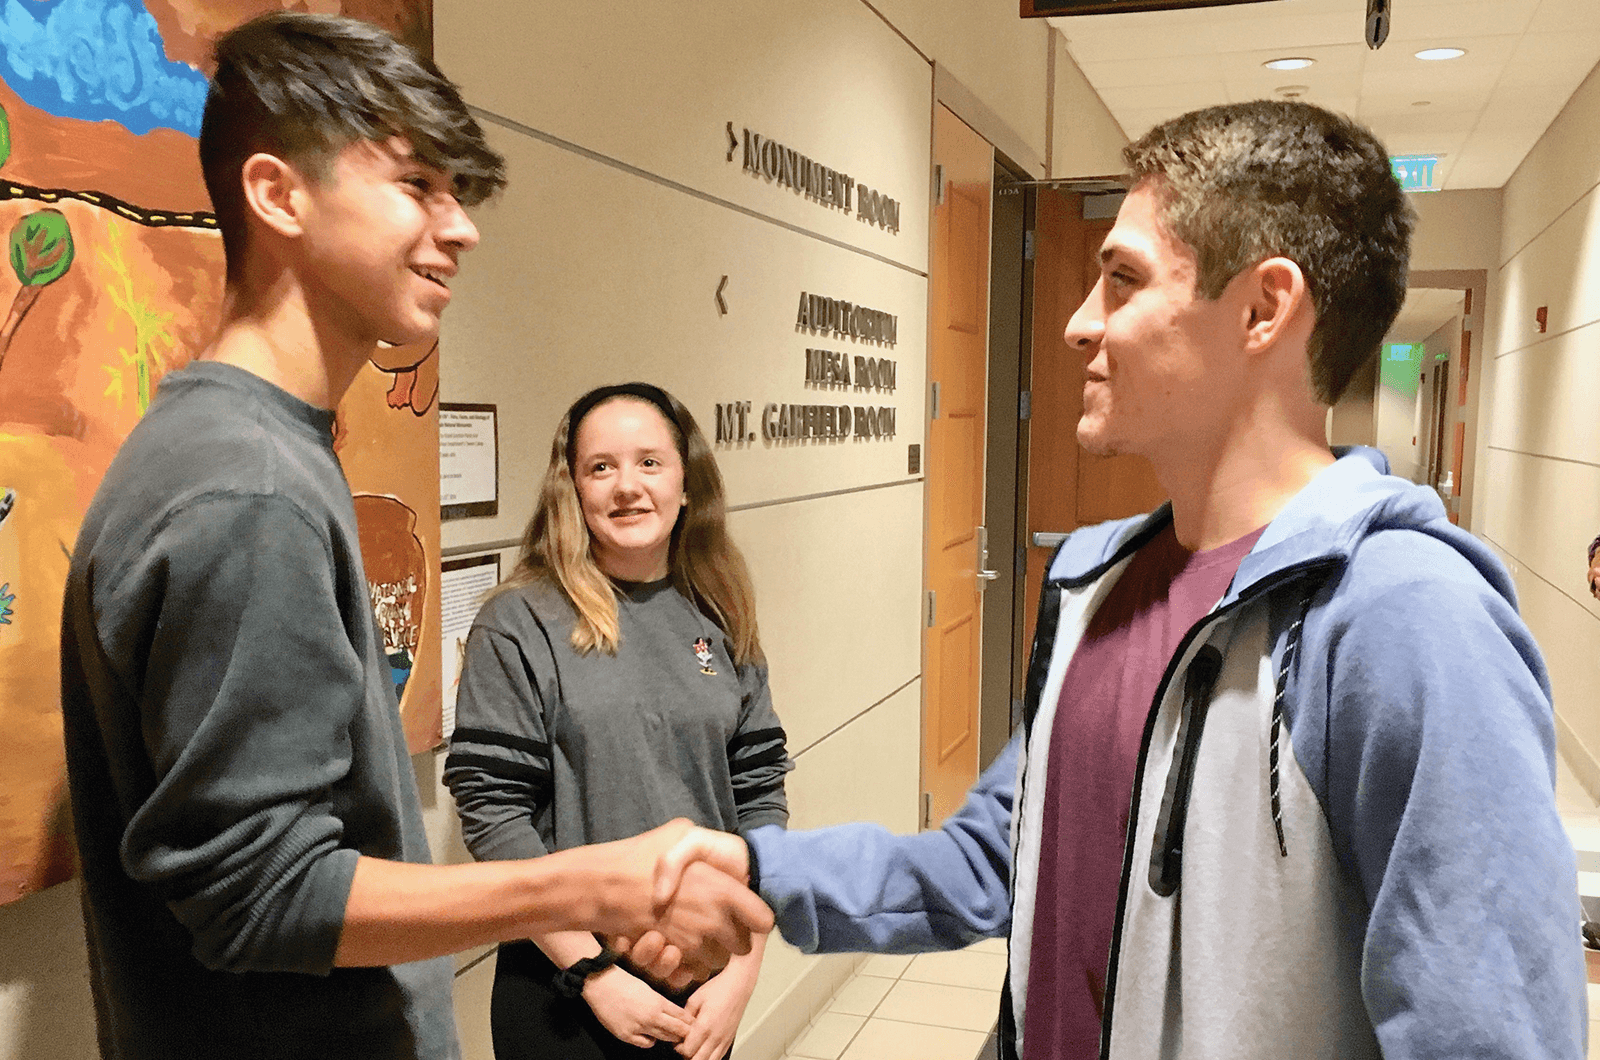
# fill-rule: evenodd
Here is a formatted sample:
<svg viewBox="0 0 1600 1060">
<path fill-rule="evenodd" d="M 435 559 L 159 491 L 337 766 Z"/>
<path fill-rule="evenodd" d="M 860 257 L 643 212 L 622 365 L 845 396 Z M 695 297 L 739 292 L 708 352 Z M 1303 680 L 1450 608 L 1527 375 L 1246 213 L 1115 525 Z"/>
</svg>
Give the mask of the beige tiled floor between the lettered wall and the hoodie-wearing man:
<svg viewBox="0 0 1600 1060">
<path fill-rule="evenodd" d="M 789 1047 L 792 1060 L 974 1060 L 1000 1012 L 1005 942 L 872 956 Z"/>
</svg>

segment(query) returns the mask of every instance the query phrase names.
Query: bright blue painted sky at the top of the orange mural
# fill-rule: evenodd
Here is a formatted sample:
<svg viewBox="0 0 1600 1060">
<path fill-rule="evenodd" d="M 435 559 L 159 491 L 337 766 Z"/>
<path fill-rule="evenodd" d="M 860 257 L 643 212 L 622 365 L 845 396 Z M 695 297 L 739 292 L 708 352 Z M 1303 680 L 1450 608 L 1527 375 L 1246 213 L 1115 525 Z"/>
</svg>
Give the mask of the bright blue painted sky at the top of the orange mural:
<svg viewBox="0 0 1600 1060">
<path fill-rule="evenodd" d="M 141 0 L 5 0 L 0 78 L 56 117 L 200 135 L 205 75 L 166 58 Z"/>
</svg>

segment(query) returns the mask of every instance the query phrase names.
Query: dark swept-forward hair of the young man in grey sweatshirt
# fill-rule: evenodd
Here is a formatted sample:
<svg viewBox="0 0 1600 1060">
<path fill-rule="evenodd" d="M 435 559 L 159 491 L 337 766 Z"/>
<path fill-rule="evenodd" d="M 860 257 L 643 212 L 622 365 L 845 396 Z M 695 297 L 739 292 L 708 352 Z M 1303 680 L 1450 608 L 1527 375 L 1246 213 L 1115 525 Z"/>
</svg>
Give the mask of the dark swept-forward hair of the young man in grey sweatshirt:
<svg viewBox="0 0 1600 1060">
<path fill-rule="evenodd" d="M 336 14 L 275 11 L 218 38 L 200 122 L 200 168 L 222 232 L 229 277 L 245 243 L 245 160 L 267 152 L 310 179 L 357 141 L 402 136 L 450 173 L 462 205 L 506 186 L 506 160 L 483 139 L 459 90 L 384 30 Z"/>
</svg>

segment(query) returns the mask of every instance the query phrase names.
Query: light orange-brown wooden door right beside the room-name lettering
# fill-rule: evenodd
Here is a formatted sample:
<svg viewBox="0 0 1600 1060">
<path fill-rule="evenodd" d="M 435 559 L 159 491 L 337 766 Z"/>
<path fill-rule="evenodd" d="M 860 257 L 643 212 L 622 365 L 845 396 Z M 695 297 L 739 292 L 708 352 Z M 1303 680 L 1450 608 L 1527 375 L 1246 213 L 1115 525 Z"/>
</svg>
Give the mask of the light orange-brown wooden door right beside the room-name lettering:
<svg viewBox="0 0 1600 1060">
<path fill-rule="evenodd" d="M 923 826 L 978 780 L 982 653 L 984 402 L 989 365 L 989 205 L 994 149 L 934 107 L 928 275 L 928 536 L 923 629 Z M 1002 549 L 1003 551 L 1003 549 Z"/>
</svg>

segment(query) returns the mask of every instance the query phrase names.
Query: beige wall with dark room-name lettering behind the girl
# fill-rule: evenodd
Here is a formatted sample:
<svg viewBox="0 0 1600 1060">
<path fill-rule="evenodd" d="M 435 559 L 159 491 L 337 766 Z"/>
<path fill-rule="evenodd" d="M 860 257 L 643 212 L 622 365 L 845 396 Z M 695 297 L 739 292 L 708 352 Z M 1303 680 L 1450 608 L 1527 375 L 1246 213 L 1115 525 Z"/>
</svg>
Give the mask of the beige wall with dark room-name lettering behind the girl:
<svg viewBox="0 0 1600 1060">
<path fill-rule="evenodd" d="M 710 431 L 717 402 L 829 400 L 803 384 L 806 346 L 894 359 L 896 392 L 872 397 L 898 408 L 893 442 L 755 442 L 718 460 L 797 761 L 794 825 L 915 829 L 925 495 L 906 447 L 925 421 L 934 67 L 963 117 L 1037 176 L 1051 143 L 1067 175 L 1114 170 L 1115 122 L 1059 34 L 1014 0 L 674 0 L 627 18 L 437 0 L 435 38 L 512 176 L 477 215 L 442 379 L 443 400 L 499 405 L 501 514 L 446 524 L 446 549 L 501 551 L 509 570 L 555 420 L 589 386 L 658 381 Z M 894 195 L 899 234 L 744 175 L 739 152 L 726 162 L 728 122 Z M 802 290 L 894 312 L 898 346 L 797 333 Z M 418 781 L 435 857 L 461 860 L 442 757 L 418 756 Z M 741 1057 L 779 1055 L 854 961 L 773 945 Z M 488 1060 L 493 954 L 458 969 L 464 1055 Z M 0 906 L 0 1060 L 93 1055 L 75 884 Z"/>
</svg>

